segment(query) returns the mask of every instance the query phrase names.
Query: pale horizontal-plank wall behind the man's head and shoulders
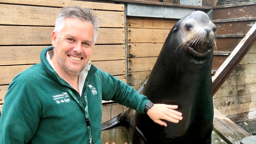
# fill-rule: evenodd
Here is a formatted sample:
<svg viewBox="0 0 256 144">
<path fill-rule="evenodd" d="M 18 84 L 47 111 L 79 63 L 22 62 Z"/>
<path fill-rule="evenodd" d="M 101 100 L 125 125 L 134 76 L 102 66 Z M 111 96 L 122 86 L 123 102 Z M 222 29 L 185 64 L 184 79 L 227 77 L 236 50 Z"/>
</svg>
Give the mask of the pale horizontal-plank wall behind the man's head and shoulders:
<svg viewBox="0 0 256 144">
<path fill-rule="evenodd" d="M 40 51 L 51 45 L 61 7 L 97 9 L 100 30 L 92 63 L 126 82 L 124 5 L 71 0 L 0 0 L 0 110 L 14 76 L 40 62 Z M 110 37 L 111 35 L 111 37 Z"/>
</svg>

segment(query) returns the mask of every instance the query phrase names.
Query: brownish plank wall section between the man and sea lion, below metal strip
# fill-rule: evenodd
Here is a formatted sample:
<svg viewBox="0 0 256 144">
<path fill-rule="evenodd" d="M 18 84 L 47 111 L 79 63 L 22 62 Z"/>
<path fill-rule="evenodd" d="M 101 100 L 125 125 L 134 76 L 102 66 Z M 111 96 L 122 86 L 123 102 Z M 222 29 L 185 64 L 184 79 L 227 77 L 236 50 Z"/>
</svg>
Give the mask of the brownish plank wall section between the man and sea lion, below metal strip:
<svg viewBox="0 0 256 144">
<path fill-rule="evenodd" d="M 164 41 L 178 19 L 127 18 L 128 78 L 136 90 L 149 77 Z"/>
</svg>

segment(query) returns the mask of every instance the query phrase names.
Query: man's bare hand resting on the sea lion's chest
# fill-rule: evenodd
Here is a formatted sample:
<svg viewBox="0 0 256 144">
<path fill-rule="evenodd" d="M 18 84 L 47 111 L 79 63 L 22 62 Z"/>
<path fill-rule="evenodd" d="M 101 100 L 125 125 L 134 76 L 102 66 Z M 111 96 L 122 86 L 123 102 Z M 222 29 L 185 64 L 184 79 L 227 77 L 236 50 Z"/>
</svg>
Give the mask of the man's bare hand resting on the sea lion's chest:
<svg viewBox="0 0 256 144">
<path fill-rule="evenodd" d="M 182 113 L 173 110 L 177 108 L 178 105 L 154 104 L 154 106 L 147 111 L 147 115 L 149 115 L 155 123 L 167 127 L 167 123 L 162 120 L 173 123 L 178 123 L 182 120 Z"/>
</svg>

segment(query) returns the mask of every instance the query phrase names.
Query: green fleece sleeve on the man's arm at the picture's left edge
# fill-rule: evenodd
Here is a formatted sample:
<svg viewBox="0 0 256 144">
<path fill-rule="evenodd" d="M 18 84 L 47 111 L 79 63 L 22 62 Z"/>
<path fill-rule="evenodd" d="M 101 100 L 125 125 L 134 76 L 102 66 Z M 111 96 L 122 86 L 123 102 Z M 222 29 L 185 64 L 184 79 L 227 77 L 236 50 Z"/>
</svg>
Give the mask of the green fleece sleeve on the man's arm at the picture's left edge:
<svg viewBox="0 0 256 144">
<path fill-rule="evenodd" d="M 1 144 L 27 144 L 41 116 L 41 103 L 23 78 L 14 78 L 4 98 L 0 118 Z"/>
</svg>

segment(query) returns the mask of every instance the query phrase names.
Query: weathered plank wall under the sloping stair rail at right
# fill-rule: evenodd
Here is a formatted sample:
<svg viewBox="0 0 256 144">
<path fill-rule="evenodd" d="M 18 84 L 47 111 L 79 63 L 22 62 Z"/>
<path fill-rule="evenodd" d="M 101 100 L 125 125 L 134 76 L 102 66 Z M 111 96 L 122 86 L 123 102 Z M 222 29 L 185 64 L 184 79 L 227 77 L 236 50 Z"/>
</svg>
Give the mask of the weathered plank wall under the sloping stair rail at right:
<svg viewBox="0 0 256 144">
<path fill-rule="evenodd" d="M 235 122 L 256 118 L 256 43 L 213 96 L 213 104 Z"/>
</svg>

